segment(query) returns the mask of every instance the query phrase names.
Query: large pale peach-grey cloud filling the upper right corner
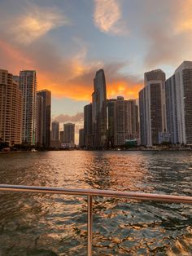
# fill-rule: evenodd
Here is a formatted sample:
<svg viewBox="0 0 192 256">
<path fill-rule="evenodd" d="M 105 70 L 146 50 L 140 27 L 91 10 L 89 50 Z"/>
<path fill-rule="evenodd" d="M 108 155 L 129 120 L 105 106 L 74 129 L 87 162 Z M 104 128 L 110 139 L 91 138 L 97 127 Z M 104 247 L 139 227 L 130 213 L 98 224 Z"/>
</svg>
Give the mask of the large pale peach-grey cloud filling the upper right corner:
<svg viewBox="0 0 192 256">
<path fill-rule="evenodd" d="M 151 10 L 155 9 L 155 3 L 151 2 Z M 142 26 L 142 35 L 148 41 L 144 59 L 147 68 L 158 65 L 177 66 L 183 60 L 192 58 L 192 0 L 169 1 L 164 11 L 162 2 L 158 4 L 156 8 L 164 12 L 164 16 L 160 20 L 154 18 L 153 22 L 144 21 Z M 151 18 L 151 14 L 148 13 L 148 16 Z"/>
</svg>

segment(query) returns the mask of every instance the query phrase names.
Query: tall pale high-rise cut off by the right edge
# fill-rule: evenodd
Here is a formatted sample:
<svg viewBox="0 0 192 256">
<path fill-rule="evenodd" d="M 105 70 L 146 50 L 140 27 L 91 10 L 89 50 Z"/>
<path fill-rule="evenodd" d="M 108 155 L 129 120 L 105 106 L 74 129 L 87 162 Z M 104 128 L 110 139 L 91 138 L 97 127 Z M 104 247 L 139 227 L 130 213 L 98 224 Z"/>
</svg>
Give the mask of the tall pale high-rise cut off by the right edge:
<svg viewBox="0 0 192 256">
<path fill-rule="evenodd" d="M 192 144 L 192 61 L 184 61 L 165 82 L 168 132 L 172 143 Z"/>
</svg>

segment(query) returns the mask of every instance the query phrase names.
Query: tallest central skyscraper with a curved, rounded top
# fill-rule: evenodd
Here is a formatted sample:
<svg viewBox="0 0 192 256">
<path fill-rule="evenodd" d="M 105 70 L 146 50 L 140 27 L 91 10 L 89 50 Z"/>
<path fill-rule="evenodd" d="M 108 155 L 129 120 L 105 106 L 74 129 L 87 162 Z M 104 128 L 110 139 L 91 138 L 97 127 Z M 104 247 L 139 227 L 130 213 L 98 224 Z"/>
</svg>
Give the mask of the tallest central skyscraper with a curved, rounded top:
<svg viewBox="0 0 192 256">
<path fill-rule="evenodd" d="M 103 69 L 99 69 L 94 77 L 94 93 L 92 95 L 92 118 L 94 132 L 94 148 L 107 147 L 107 93 Z"/>
</svg>

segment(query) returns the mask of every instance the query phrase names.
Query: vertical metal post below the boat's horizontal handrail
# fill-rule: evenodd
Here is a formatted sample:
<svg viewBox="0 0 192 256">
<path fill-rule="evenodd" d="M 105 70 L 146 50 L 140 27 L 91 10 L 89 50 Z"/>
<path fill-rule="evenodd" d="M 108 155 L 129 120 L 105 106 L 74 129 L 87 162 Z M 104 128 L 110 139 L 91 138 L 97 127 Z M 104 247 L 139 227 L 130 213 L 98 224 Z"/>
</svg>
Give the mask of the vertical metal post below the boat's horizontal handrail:
<svg viewBox="0 0 192 256">
<path fill-rule="evenodd" d="M 93 239 L 93 209 L 92 196 L 87 196 L 87 255 L 92 256 L 92 239 Z"/>
</svg>

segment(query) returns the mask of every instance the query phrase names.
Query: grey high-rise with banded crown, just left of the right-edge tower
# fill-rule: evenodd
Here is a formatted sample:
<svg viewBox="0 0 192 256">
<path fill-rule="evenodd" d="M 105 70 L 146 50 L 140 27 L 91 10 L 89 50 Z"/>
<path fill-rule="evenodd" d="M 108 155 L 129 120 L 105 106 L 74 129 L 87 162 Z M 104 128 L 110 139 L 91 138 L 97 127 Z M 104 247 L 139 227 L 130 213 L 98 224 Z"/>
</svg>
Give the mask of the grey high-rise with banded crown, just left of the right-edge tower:
<svg viewBox="0 0 192 256">
<path fill-rule="evenodd" d="M 141 144 L 159 144 L 159 135 L 166 131 L 165 73 L 152 70 L 144 74 L 145 86 L 139 92 Z"/>
</svg>

